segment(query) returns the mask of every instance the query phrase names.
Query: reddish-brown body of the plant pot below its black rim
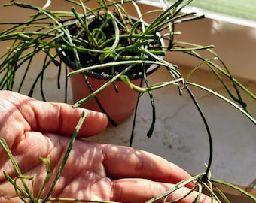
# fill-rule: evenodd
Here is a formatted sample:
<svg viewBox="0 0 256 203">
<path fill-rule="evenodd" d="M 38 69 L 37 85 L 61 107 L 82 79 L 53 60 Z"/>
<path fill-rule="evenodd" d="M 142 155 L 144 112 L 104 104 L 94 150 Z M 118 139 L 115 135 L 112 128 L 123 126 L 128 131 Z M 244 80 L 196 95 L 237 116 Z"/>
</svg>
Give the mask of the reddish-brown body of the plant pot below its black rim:
<svg viewBox="0 0 256 203">
<path fill-rule="evenodd" d="M 106 80 L 96 77 L 87 76 L 87 79 L 95 90 L 106 83 Z M 90 95 L 90 90 L 84 83 L 84 78 L 81 74 L 72 75 L 70 80 L 74 102 L 78 102 L 81 98 Z M 139 86 L 140 79 L 133 80 L 133 83 Z M 120 124 L 133 114 L 136 108 L 138 93 L 130 89 L 130 87 L 122 81 L 116 81 L 115 84 L 117 85 L 118 92 L 116 92 L 114 86 L 111 85 L 100 92 L 97 98 L 111 119 L 117 124 Z M 85 103 L 82 107 L 94 111 L 101 111 L 95 98 Z M 108 126 L 111 126 L 111 123 L 108 123 Z"/>
</svg>

